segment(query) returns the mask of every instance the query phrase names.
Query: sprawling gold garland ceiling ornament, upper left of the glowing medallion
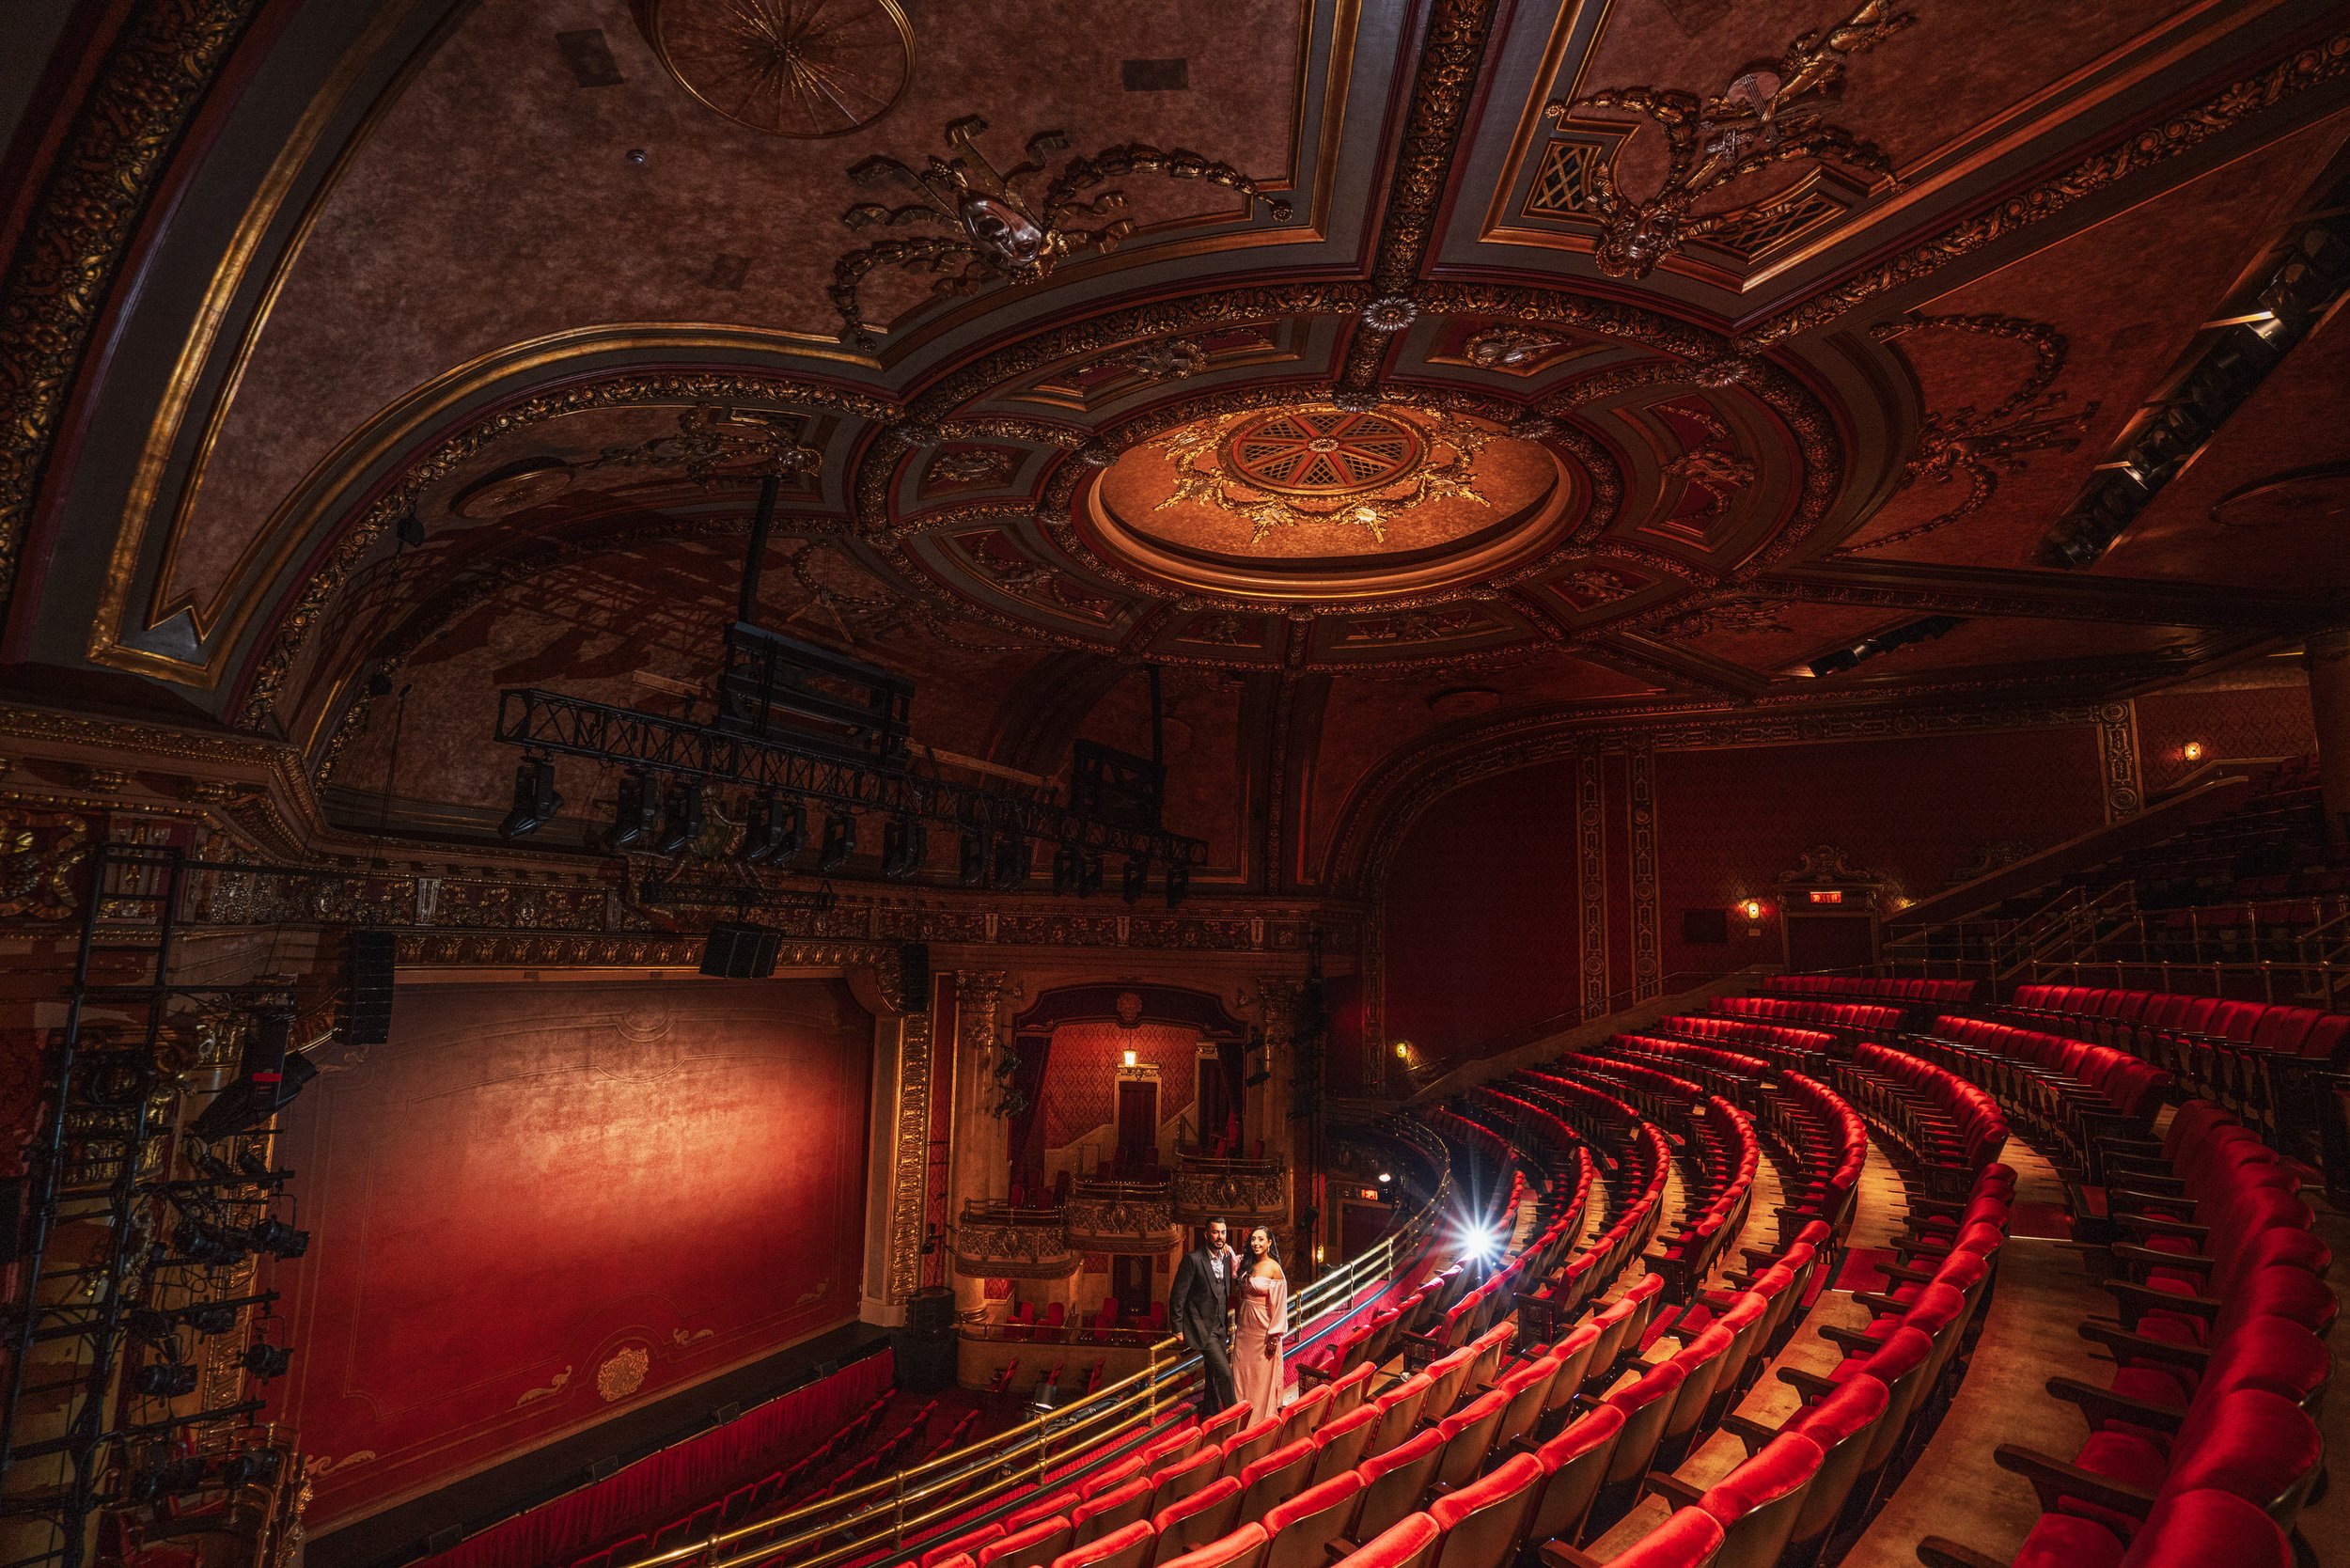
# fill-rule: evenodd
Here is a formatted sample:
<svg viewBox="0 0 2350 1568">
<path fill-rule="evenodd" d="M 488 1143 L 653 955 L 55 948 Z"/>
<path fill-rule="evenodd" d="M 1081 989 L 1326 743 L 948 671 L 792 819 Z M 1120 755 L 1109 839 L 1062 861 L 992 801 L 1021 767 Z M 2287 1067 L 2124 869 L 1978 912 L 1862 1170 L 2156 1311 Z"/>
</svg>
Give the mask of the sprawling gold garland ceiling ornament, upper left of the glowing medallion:
<svg viewBox="0 0 2350 1568">
<path fill-rule="evenodd" d="M 1260 190 L 1227 162 L 1215 162 L 1184 148 L 1154 148 L 1140 141 L 1104 148 L 1093 158 L 1069 158 L 1058 174 L 1048 172 L 1048 155 L 1069 146 L 1065 132 L 1036 132 L 1027 141 L 1027 158 L 1010 169 L 994 162 L 973 143 L 987 132 L 987 120 L 964 115 L 947 127 L 952 158 L 931 158 L 914 169 L 888 155 L 874 155 L 848 169 L 848 179 L 860 186 L 893 181 L 914 195 L 902 207 L 858 202 L 841 214 L 848 228 L 881 223 L 947 228 L 947 235 L 921 235 L 912 240 L 877 240 L 848 252 L 832 263 L 832 306 L 841 313 L 844 334 L 860 348 L 877 343 L 865 329 L 858 303 L 865 275 L 895 266 L 909 273 L 938 273 L 931 292 L 940 299 L 975 294 L 985 282 L 1032 284 L 1053 275 L 1062 256 L 1076 252 L 1112 252 L 1135 233 L 1135 221 L 1126 214 L 1123 190 L 1081 193 L 1128 174 L 1163 174 L 1166 179 L 1198 179 L 1224 186 L 1248 197 L 1255 212 Z M 1288 221 L 1288 202 L 1267 202 L 1276 221 Z M 1081 228 L 1081 219 L 1104 219 L 1095 228 Z"/>
</svg>

